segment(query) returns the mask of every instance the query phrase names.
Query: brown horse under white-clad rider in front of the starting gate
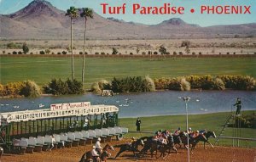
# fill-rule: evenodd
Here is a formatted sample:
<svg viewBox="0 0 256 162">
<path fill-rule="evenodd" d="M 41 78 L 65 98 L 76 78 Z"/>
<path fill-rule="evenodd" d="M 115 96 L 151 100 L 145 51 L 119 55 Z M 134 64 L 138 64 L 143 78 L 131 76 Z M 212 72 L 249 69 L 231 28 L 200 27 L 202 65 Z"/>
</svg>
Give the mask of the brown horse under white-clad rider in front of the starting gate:
<svg viewBox="0 0 256 162">
<path fill-rule="evenodd" d="M 108 157 L 111 156 L 111 154 L 108 153 L 108 150 L 114 150 L 113 146 L 111 146 L 110 144 L 106 144 L 106 146 L 102 148 L 102 154 L 100 154 L 101 161 L 106 162 Z M 91 151 L 84 153 L 79 162 L 93 162 Z"/>
</svg>

